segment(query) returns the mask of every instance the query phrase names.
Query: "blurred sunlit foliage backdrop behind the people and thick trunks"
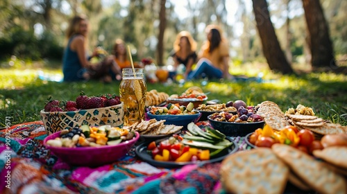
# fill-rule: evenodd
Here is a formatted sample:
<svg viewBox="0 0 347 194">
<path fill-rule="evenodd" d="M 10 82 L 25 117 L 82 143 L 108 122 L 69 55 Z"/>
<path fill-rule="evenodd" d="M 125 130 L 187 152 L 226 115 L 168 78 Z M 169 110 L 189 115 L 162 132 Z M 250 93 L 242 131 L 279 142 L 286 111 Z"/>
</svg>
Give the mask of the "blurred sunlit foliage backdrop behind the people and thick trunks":
<svg viewBox="0 0 347 194">
<path fill-rule="evenodd" d="M 262 43 L 258 33 L 251 0 L 166 0 L 164 7 L 160 6 L 162 2 L 2 0 L 0 60 L 7 60 L 11 55 L 31 60 L 61 60 L 69 19 L 85 14 L 90 20 L 90 51 L 95 46 L 103 46 L 112 53 L 114 40 L 121 38 L 132 48 L 134 60 L 153 58 L 162 65 L 166 64 L 180 30 L 190 31 L 199 48 L 205 41 L 205 26 L 218 24 L 230 42 L 232 62 L 265 61 L 264 41 Z M 285 53 L 289 66 L 310 63 L 312 55 L 307 40 L 312 34 L 306 19 L 307 14 L 312 17 L 312 13 L 304 10 L 303 0 L 267 0 L 266 3 L 280 50 Z M 317 0 L 316 3 L 322 8 L 332 42 L 330 54 L 337 59 L 347 58 L 347 1 Z M 165 17 L 160 15 L 160 10 L 164 10 Z M 160 27 L 163 18 L 164 28 Z"/>
</svg>

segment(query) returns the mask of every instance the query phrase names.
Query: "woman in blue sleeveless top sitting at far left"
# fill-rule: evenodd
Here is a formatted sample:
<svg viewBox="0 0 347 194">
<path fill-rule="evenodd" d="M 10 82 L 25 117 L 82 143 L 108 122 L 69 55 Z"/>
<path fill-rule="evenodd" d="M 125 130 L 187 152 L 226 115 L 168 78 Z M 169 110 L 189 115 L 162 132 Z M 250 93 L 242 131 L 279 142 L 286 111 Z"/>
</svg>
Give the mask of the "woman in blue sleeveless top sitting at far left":
<svg viewBox="0 0 347 194">
<path fill-rule="evenodd" d="M 88 21 L 85 16 L 79 15 L 71 19 L 67 28 L 67 46 L 62 58 L 62 73 L 65 82 L 81 80 L 102 80 L 111 82 L 110 73 L 121 73 L 112 58 L 107 57 L 102 62 L 92 64 L 89 60 L 96 55 L 96 51 L 87 57 Z"/>
</svg>

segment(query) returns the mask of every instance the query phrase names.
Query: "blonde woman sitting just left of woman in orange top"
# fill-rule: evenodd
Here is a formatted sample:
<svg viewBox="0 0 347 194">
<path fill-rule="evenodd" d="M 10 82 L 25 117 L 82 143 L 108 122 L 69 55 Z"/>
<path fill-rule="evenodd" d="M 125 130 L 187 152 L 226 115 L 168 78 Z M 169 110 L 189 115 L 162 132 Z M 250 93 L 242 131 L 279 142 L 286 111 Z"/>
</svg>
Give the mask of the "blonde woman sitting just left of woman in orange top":
<svg viewBox="0 0 347 194">
<path fill-rule="evenodd" d="M 185 66 L 184 78 L 186 79 L 189 72 L 192 71 L 192 66 L 196 62 L 196 42 L 188 31 L 181 31 L 176 36 L 174 42 L 174 54 L 171 55 L 174 59 L 174 69 L 177 71 L 178 66 Z"/>
</svg>

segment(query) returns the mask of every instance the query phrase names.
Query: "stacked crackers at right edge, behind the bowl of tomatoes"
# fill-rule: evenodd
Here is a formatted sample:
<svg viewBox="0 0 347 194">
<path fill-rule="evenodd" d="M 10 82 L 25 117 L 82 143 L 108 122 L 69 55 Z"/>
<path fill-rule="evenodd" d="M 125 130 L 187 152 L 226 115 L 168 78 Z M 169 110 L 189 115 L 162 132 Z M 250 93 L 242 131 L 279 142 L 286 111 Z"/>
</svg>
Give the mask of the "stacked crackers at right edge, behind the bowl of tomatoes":
<svg viewBox="0 0 347 194">
<path fill-rule="evenodd" d="M 347 133 L 347 127 L 336 123 L 325 123 L 322 118 L 310 115 L 286 114 L 291 119 L 294 126 L 299 130 L 307 129 L 314 133 L 325 134 L 341 134 Z"/>
</svg>

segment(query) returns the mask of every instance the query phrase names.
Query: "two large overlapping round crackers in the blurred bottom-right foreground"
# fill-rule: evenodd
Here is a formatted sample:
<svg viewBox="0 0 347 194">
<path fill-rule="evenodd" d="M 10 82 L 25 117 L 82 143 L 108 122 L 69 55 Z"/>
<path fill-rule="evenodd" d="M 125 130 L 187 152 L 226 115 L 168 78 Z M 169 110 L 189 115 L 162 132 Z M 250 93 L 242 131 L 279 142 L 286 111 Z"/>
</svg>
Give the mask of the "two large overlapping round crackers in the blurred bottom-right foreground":
<svg viewBox="0 0 347 194">
<path fill-rule="evenodd" d="M 346 161 L 346 151 L 340 155 Z M 343 175 L 330 170 L 314 157 L 280 143 L 272 148 L 241 151 L 226 157 L 221 163 L 220 174 L 223 188 L 228 193 L 283 193 L 287 182 L 302 191 L 347 191 Z"/>
</svg>

